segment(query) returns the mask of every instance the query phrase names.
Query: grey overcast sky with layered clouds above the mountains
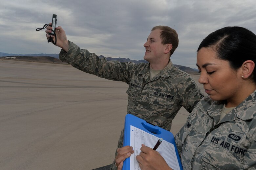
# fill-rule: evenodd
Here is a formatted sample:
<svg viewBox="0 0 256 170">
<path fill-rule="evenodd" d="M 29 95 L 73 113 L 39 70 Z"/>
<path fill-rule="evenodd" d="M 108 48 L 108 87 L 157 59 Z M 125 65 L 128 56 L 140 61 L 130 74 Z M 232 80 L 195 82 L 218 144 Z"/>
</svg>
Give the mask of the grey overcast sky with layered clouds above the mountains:
<svg viewBox="0 0 256 170">
<path fill-rule="evenodd" d="M 241 26 L 256 33 L 256 0 L 0 0 L 0 52 L 59 53 L 47 43 L 52 21 L 81 48 L 105 57 L 143 59 L 151 28 L 166 25 L 179 34 L 171 56 L 177 65 L 196 67 L 196 50 L 209 33 Z"/>
</svg>

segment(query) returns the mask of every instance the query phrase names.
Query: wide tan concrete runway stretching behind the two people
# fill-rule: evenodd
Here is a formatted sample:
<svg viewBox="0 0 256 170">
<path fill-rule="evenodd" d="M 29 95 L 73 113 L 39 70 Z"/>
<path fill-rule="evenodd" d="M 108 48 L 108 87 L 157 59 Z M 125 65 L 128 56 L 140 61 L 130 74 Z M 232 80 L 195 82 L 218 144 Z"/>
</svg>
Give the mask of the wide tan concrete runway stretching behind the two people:
<svg viewBox="0 0 256 170">
<path fill-rule="evenodd" d="M 192 76 L 198 83 L 199 75 Z M 0 169 L 90 170 L 111 164 L 127 88 L 70 65 L 0 60 Z M 188 115 L 181 108 L 174 135 Z"/>
</svg>

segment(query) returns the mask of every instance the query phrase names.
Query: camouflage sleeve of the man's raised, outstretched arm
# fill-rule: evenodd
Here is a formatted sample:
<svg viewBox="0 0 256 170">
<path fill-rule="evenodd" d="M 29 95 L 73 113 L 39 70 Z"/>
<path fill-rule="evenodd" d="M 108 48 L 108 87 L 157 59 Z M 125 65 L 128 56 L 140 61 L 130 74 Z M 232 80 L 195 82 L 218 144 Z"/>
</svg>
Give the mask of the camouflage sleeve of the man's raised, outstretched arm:
<svg viewBox="0 0 256 170">
<path fill-rule="evenodd" d="M 119 61 L 107 61 L 86 49 L 80 49 L 75 43 L 69 41 L 69 49 L 66 53 L 60 51 L 59 59 L 71 64 L 73 67 L 98 77 L 123 81 L 129 84 L 131 75 L 136 67 L 135 63 L 120 63 Z"/>
</svg>

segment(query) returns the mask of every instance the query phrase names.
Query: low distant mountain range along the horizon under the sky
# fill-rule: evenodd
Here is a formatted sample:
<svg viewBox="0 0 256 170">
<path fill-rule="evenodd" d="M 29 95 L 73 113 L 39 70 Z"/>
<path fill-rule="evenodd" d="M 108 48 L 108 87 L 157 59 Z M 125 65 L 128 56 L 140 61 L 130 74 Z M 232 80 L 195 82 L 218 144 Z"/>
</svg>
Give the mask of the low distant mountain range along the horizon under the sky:
<svg viewBox="0 0 256 170">
<path fill-rule="evenodd" d="M 100 58 L 104 57 L 103 55 L 99 56 Z M 0 52 L 0 58 L 2 59 L 10 59 L 10 60 L 19 60 L 19 61 L 32 61 L 32 62 L 43 62 L 43 63 L 59 63 L 59 64 L 66 64 L 59 60 L 59 54 L 8 54 Z M 112 58 L 106 57 L 108 61 L 117 60 L 120 62 L 133 62 L 133 63 L 148 63 L 146 60 L 131 60 L 129 58 Z M 185 71 L 189 74 L 197 74 L 198 70 L 193 69 L 186 66 L 174 65 Z"/>
</svg>

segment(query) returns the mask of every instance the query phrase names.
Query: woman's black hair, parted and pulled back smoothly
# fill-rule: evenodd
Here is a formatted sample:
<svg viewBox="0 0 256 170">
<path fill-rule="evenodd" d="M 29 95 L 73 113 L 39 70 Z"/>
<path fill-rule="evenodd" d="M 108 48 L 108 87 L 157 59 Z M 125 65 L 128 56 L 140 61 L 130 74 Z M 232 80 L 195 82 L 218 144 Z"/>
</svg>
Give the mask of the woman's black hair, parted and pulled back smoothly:
<svg viewBox="0 0 256 170">
<path fill-rule="evenodd" d="M 210 33 L 203 39 L 197 52 L 202 47 L 212 47 L 217 57 L 229 62 L 230 67 L 237 70 L 246 60 L 256 64 L 256 35 L 243 27 L 224 27 Z M 256 69 L 252 73 L 256 83 Z"/>
</svg>

